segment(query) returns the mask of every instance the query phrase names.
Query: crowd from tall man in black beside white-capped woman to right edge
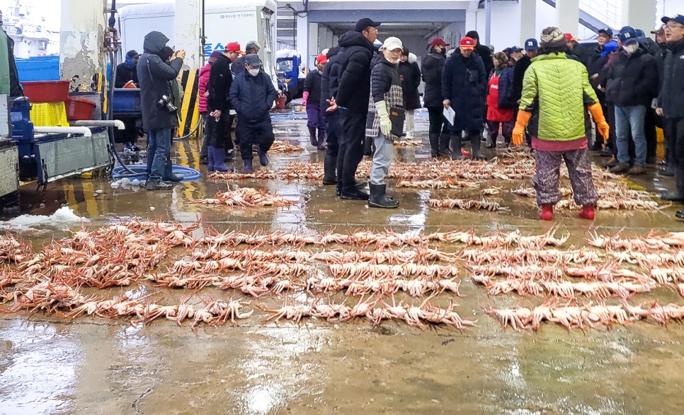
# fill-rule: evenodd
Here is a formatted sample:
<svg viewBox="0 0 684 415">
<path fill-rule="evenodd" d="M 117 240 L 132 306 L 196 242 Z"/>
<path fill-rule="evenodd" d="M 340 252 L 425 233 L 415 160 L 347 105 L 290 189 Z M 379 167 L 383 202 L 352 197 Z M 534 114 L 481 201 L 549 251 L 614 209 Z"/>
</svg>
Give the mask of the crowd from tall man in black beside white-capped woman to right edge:
<svg viewBox="0 0 684 415">
<path fill-rule="evenodd" d="M 558 28 L 496 53 L 481 45 L 474 31 L 451 50 L 436 37 L 418 68 L 401 40 L 388 37 L 377 47 L 380 23 L 361 19 L 329 50 L 322 69 L 322 110 L 316 114 L 328 119 L 327 134 L 334 137 L 326 150 L 324 184 L 336 184 L 341 199 L 370 199 L 372 207 L 399 205 L 384 185 L 392 159 L 387 142 L 413 135 L 422 80 L 432 156 L 485 160 L 481 142 L 496 148 L 500 135 L 503 146 L 526 144 L 537 161 L 534 182 L 542 219 L 553 218 L 561 197 L 563 161 L 582 206 L 579 216 L 593 219 L 598 194 L 590 152 L 610 157 L 602 165 L 612 173 L 642 175 L 656 163 L 656 127 L 663 127 L 666 146 L 659 174 L 674 175 L 677 182 L 676 191 L 662 197 L 684 201 L 684 17 L 662 21 L 651 32 L 655 41 L 626 26 L 619 33 L 599 30 L 592 47 L 582 47 Z M 463 148 L 467 143 L 470 151 Z M 371 145 L 367 194 L 355 171 Z M 684 218 L 684 211 L 677 216 Z"/>
</svg>

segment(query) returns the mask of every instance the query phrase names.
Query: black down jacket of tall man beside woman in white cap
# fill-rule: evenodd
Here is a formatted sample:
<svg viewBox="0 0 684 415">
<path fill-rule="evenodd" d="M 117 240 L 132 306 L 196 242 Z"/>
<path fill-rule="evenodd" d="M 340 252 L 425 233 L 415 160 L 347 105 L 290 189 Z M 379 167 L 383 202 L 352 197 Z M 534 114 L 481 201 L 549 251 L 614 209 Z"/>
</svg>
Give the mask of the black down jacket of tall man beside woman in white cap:
<svg viewBox="0 0 684 415">
<path fill-rule="evenodd" d="M 340 63 L 337 105 L 350 112 L 368 111 L 370 96 L 370 61 L 375 46 L 361 33 L 347 32 L 340 37 Z"/>
</svg>

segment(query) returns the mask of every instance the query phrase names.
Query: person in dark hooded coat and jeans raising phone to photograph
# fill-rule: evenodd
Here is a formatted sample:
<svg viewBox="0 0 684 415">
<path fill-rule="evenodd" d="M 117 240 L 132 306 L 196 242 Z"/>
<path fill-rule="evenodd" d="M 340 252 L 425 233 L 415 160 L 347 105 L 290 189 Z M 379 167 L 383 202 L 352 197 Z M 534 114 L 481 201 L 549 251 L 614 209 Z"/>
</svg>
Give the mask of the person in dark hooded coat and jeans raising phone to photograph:
<svg viewBox="0 0 684 415">
<path fill-rule="evenodd" d="M 169 38 L 160 32 L 150 32 L 143 42 L 143 54 L 137 65 L 140 81 L 142 127 L 147 132 L 147 189 L 169 189 L 171 184 L 171 129 L 178 127 L 178 112 L 173 105 L 171 81 L 178 77 L 186 52 L 173 52 L 171 62 L 161 59 Z"/>
</svg>

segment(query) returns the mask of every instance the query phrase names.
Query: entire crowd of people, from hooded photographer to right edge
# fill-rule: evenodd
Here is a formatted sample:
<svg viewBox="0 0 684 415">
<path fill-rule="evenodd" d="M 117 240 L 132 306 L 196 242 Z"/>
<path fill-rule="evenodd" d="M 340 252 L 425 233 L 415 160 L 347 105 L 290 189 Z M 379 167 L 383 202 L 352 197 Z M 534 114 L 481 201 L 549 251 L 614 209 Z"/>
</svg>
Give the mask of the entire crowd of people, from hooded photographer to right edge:
<svg viewBox="0 0 684 415">
<path fill-rule="evenodd" d="M 542 219 L 552 219 L 561 197 L 563 161 L 574 199 L 582 206 L 579 216 L 593 219 L 598 194 L 590 152 L 610 157 L 603 166 L 613 173 L 642 175 L 656 162 L 656 127 L 663 128 L 666 146 L 659 173 L 674 175 L 677 183 L 676 191 L 663 199 L 684 202 L 684 16 L 662 21 L 651 32 L 655 41 L 629 26 L 619 33 L 605 28 L 598 31 L 595 47 L 583 47 L 558 28 L 501 52 L 482 45 L 474 31 L 454 49 L 435 37 L 418 66 L 416 55 L 400 39 L 379 42 L 380 23 L 362 18 L 339 37 L 338 45 L 316 58 L 305 81 L 309 138 L 312 146 L 326 151 L 324 185 L 336 185 L 341 199 L 399 206 L 387 194 L 384 179 L 392 141 L 414 136 L 422 81 L 433 158 L 486 160 L 481 143 L 496 148 L 500 135 L 503 146 L 526 144 L 537 160 L 534 183 Z M 147 35 L 139 57 L 143 64 L 136 71 L 150 137 L 148 189 L 169 186 L 170 172 L 164 168 L 170 164 L 174 117 L 165 114 L 161 98 L 173 94 L 168 81 L 178 75 L 184 53 L 162 59 L 167 41 L 161 33 Z M 244 171 L 253 170 L 253 145 L 261 165 L 268 164 L 266 153 L 274 139 L 268 112 L 277 93 L 258 50 L 256 42 L 247 45 L 246 53 L 229 43 L 200 71 L 206 131 L 202 156 L 209 171 L 231 170 L 225 161 L 234 154 L 230 129 L 235 116 Z M 373 160 L 367 193 L 356 170 L 369 152 Z M 684 210 L 677 216 L 684 218 Z"/>
</svg>

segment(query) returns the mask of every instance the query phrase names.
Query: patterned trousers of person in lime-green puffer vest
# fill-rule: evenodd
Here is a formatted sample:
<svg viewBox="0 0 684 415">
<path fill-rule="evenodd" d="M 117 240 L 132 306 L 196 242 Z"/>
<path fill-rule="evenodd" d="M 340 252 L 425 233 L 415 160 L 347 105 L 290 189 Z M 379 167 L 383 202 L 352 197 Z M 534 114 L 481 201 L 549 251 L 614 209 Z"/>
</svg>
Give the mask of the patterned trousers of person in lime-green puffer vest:
<svg viewBox="0 0 684 415">
<path fill-rule="evenodd" d="M 570 184 L 575 203 L 595 205 L 598 193 L 591 178 L 591 163 L 587 156 L 587 149 L 572 151 L 540 151 L 535 150 L 537 159 L 537 174 L 535 175 L 535 189 L 537 190 L 537 204 L 557 204 L 562 194 L 558 189 L 560 167 L 563 160 L 568 166 Z"/>
</svg>

